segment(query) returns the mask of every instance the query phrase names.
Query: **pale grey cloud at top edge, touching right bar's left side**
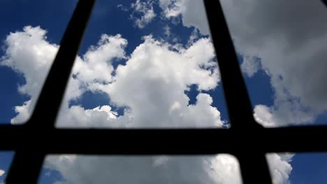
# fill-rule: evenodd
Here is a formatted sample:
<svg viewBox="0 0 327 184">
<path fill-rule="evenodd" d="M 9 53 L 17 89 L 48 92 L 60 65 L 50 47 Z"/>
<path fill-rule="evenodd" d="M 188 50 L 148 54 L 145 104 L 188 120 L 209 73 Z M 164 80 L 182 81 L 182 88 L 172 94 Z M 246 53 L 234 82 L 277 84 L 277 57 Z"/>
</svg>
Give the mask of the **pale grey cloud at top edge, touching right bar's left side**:
<svg viewBox="0 0 327 184">
<path fill-rule="evenodd" d="M 182 15 L 184 26 L 195 26 L 203 35 L 210 33 L 203 1 L 193 0 L 159 0 L 163 16 L 174 18 Z"/>
</svg>

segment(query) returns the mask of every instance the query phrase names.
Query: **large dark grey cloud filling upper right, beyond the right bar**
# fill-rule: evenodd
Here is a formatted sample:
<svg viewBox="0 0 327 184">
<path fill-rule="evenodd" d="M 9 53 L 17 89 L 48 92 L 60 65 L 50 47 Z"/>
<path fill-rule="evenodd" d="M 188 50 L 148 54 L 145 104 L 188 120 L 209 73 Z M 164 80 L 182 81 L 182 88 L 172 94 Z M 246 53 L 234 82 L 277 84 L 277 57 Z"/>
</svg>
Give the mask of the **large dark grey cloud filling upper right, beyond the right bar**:
<svg viewBox="0 0 327 184">
<path fill-rule="evenodd" d="M 222 4 L 238 52 L 259 57 L 270 75 L 275 121 L 314 122 L 327 109 L 326 6 L 318 0 Z"/>
</svg>

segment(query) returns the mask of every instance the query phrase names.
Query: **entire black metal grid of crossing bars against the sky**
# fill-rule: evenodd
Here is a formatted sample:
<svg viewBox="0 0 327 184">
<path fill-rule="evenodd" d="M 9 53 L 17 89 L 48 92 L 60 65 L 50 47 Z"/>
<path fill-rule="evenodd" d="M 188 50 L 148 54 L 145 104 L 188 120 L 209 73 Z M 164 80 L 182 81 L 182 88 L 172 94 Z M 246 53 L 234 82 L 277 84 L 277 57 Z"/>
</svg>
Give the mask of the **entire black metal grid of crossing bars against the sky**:
<svg viewBox="0 0 327 184">
<path fill-rule="evenodd" d="M 24 125 L 1 125 L 0 135 L 10 137 L 0 150 L 15 151 L 6 183 L 37 183 L 45 155 L 210 155 L 230 153 L 238 158 L 242 181 L 272 183 L 266 153 L 327 151 L 327 126 L 263 128 L 254 121 L 252 106 L 238 66 L 233 42 L 219 1 L 204 0 L 215 45 L 230 129 L 56 129 L 55 118 L 78 53 L 78 47 L 95 0 L 80 0 L 34 114 Z M 156 140 L 152 144 L 148 138 Z M 294 140 L 293 137 L 296 137 Z M 104 140 L 110 142 L 110 146 Z M 218 142 L 217 140 L 224 140 Z M 98 142 L 94 144 L 94 142 Z"/>
</svg>

